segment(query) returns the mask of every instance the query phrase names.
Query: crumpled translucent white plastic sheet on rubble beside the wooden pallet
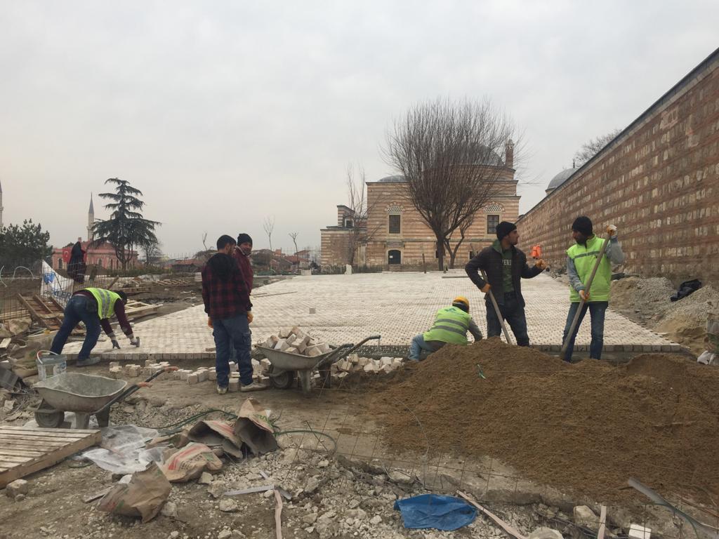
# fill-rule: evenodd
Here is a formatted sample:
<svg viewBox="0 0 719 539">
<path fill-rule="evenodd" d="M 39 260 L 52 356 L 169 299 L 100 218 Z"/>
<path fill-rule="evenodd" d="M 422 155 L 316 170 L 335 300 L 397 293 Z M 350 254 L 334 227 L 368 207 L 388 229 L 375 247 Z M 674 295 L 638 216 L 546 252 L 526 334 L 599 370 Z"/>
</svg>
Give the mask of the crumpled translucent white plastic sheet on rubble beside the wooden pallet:
<svg viewBox="0 0 719 539">
<path fill-rule="evenodd" d="M 101 447 L 88 449 L 82 456 L 102 469 L 114 474 L 134 474 L 145 470 L 152 461 L 162 462 L 165 446 L 145 449 L 145 443 L 157 436 L 157 430 L 122 425 L 105 427 L 101 431 Z"/>
</svg>

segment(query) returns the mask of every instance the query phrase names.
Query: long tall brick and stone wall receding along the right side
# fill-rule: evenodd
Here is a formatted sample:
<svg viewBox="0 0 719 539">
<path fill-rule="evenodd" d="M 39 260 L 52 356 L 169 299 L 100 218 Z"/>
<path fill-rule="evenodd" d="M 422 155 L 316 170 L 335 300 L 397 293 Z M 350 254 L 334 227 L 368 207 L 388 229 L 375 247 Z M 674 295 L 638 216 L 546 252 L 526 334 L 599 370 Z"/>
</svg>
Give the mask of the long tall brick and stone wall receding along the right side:
<svg viewBox="0 0 719 539">
<path fill-rule="evenodd" d="M 619 227 L 626 272 L 719 282 L 719 50 L 518 221 L 564 266 L 574 218 Z"/>
</svg>

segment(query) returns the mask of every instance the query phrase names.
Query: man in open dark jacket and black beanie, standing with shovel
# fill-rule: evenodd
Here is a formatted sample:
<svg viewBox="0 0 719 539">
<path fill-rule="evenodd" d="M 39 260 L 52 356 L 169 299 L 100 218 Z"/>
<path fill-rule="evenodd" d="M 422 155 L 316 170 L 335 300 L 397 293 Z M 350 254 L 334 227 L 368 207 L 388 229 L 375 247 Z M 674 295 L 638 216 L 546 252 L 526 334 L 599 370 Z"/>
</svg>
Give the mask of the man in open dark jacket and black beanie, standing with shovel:
<svg viewBox="0 0 719 539">
<path fill-rule="evenodd" d="M 491 247 L 485 247 L 480 254 L 467 262 L 464 270 L 477 288 L 487 294 L 487 337 L 495 337 L 502 333 L 502 326 L 490 300 L 490 288 L 499 305 L 502 318 L 512 328 L 512 333 L 519 346 L 529 346 L 527 320 L 524 315 L 524 298 L 522 298 L 521 279 L 536 277 L 546 268 L 544 260 L 537 260 L 534 267 L 527 265 L 527 257 L 517 249 L 519 234 L 514 223 L 502 221 L 497 226 L 497 239 Z M 480 270 L 484 270 L 487 281 L 482 279 Z"/>
</svg>

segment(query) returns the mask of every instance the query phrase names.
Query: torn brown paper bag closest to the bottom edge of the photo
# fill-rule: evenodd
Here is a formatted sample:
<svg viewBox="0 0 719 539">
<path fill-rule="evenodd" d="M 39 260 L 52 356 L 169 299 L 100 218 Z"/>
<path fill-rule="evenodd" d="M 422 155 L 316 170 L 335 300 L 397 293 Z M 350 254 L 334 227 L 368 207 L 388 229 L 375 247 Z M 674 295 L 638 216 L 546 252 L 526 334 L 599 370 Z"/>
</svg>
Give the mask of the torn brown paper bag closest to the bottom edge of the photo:
<svg viewBox="0 0 719 539">
<path fill-rule="evenodd" d="M 142 522 L 152 520 L 170 495 L 170 482 L 162 470 L 151 462 L 144 471 L 132 474 L 127 484 L 116 484 L 98 504 L 101 511 L 142 517 Z"/>
</svg>

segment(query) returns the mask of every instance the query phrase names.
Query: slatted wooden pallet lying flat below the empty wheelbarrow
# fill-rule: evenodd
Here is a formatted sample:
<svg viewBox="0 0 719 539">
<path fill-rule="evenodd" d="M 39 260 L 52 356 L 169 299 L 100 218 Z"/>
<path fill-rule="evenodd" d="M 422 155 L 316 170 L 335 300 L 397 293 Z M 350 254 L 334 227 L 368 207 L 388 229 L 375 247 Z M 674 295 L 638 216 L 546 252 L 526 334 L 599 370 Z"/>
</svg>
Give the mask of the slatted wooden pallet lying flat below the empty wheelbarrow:
<svg viewBox="0 0 719 539">
<path fill-rule="evenodd" d="M 0 426 L 0 489 L 100 443 L 99 430 Z"/>
</svg>

